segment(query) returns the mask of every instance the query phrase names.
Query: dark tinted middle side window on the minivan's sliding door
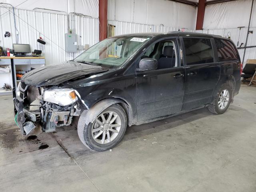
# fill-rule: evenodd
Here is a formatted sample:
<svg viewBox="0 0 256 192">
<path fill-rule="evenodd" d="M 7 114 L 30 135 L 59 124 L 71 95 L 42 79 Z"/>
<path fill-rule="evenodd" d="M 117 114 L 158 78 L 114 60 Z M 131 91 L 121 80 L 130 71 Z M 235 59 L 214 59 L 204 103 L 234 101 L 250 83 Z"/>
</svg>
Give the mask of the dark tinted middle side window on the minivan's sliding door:
<svg viewBox="0 0 256 192">
<path fill-rule="evenodd" d="M 210 39 L 183 38 L 187 65 L 212 63 L 214 56 Z"/>
</svg>

